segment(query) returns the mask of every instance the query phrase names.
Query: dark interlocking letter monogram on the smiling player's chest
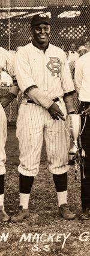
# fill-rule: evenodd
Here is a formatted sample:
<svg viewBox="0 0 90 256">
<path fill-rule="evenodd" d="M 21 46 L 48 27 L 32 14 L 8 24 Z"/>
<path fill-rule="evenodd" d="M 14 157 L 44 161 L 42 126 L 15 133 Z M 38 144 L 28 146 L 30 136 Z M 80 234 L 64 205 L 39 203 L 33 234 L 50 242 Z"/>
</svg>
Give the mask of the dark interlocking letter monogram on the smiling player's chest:
<svg viewBox="0 0 90 256">
<path fill-rule="evenodd" d="M 47 68 L 52 72 L 52 76 L 55 76 L 55 73 L 58 74 L 61 71 L 61 62 L 58 57 L 50 57 L 50 61 L 47 63 Z"/>
</svg>

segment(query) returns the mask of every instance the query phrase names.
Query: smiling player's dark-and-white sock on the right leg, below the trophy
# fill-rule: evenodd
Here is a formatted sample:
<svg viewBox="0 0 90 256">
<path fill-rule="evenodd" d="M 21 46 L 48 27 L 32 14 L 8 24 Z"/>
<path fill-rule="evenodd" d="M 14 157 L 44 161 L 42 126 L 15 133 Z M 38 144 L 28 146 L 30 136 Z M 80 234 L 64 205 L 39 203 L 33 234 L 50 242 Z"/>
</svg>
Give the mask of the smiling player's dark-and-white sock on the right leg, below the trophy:
<svg viewBox="0 0 90 256">
<path fill-rule="evenodd" d="M 53 174 L 53 180 L 58 197 L 58 206 L 61 206 L 67 203 L 67 172 L 64 174 Z"/>
</svg>

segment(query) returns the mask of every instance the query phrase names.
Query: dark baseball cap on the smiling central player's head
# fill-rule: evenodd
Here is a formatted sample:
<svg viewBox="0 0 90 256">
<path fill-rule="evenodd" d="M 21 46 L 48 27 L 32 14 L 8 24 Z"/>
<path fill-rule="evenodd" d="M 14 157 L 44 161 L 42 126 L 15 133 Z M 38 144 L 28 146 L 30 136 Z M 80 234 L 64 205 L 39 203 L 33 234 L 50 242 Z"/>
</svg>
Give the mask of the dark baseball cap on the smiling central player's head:
<svg viewBox="0 0 90 256">
<path fill-rule="evenodd" d="M 34 15 L 32 17 L 31 27 L 33 27 L 35 25 L 40 25 L 41 23 L 51 25 L 49 16 L 46 15 L 45 13 L 41 13 L 41 14 Z"/>
</svg>

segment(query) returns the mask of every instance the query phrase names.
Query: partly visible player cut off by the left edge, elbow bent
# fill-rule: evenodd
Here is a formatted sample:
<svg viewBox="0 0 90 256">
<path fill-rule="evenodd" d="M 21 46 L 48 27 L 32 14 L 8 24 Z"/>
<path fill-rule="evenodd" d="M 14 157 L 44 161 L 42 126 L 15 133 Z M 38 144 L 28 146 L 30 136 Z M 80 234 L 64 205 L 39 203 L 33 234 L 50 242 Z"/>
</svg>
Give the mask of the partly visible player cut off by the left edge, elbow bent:
<svg viewBox="0 0 90 256">
<path fill-rule="evenodd" d="M 13 87 L 10 93 L 6 97 L 1 97 L 0 102 L 3 107 L 8 105 L 19 92 L 19 87 L 14 76 L 14 58 L 13 54 L 4 48 L 0 47 L 0 69 L 7 71 L 8 74 L 13 78 Z M 7 117 L 5 116 L 4 109 L 0 103 L 0 222 L 8 222 L 10 217 L 4 210 L 4 174 L 5 174 L 5 142 L 7 139 Z"/>
</svg>

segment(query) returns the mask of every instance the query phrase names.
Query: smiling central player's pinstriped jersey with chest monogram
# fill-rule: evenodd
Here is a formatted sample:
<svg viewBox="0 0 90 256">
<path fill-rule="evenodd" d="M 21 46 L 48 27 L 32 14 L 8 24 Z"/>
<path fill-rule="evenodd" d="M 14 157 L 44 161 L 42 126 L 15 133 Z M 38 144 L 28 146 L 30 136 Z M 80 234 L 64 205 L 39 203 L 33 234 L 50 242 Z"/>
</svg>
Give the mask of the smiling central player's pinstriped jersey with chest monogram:
<svg viewBox="0 0 90 256">
<path fill-rule="evenodd" d="M 23 93 L 37 85 L 44 96 L 53 99 L 74 90 L 65 53 L 52 44 L 45 53 L 32 43 L 22 47 L 15 56 L 15 73 Z"/>
</svg>

